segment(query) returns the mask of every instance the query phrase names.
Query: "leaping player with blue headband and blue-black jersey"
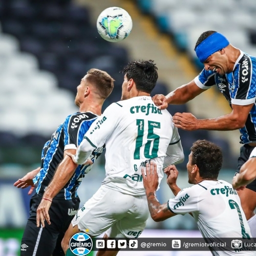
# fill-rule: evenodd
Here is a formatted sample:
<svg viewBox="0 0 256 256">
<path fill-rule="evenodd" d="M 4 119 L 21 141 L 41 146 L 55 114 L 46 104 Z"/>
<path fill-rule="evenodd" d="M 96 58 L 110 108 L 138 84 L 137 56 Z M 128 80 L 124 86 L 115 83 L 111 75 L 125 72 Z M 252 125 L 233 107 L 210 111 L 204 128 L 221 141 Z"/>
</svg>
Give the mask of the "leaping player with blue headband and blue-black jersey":
<svg viewBox="0 0 256 256">
<path fill-rule="evenodd" d="M 155 95 L 153 101 L 160 109 L 168 107 L 168 104 L 185 104 L 212 86 L 217 86 L 225 96 L 232 108 L 229 114 L 197 119 L 191 113 L 175 113 L 173 122 L 177 128 L 185 130 L 239 129 L 243 146 L 237 172 L 241 169 L 241 173 L 235 176 L 233 186 L 238 189 L 251 233 L 256 237 L 256 179 L 248 179 L 248 175 L 243 175 L 246 170 L 244 164 L 253 149 L 256 149 L 256 57 L 235 48 L 224 35 L 216 31 L 202 33 L 194 49 L 204 64 L 202 72 L 167 96 Z M 246 188 L 241 187 L 244 184 L 247 184 Z"/>
</svg>

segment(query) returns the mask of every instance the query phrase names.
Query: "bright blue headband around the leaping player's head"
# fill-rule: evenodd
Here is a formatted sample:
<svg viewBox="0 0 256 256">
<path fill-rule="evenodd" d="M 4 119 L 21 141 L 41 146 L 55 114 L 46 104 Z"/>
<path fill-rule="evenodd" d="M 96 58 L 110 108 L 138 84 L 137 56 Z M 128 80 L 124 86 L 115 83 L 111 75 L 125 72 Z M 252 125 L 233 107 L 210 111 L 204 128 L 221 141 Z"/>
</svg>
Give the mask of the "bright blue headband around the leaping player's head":
<svg viewBox="0 0 256 256">
<path fill-rule="evenodd" d="M 209 56 L 229 45 L 229 41 L 220 33 L 215 32 L 195 48 L 196 56 L 204 63 Z"/>
</svg>

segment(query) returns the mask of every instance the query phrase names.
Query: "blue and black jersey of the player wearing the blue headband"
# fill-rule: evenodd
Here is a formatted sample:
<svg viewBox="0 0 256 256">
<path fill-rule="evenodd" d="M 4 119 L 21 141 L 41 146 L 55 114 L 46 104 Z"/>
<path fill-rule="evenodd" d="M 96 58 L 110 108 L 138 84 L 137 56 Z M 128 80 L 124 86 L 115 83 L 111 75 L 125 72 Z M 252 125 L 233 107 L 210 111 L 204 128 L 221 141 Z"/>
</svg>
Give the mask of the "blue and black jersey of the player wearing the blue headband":
<svg viewBox="0 0 256 256">
<path fill-rule="evenodd" d="M 239 131 L 240 143 L 256 142 L 256 57 L 241 51 L 233 72 L 220 76 L 216 72 L 203 69 L 194 82 L 202 89 L 217 85 L 231 107 L 232 104 L 246 106 L 254 103 L 245 127 Z"/>
</svg>

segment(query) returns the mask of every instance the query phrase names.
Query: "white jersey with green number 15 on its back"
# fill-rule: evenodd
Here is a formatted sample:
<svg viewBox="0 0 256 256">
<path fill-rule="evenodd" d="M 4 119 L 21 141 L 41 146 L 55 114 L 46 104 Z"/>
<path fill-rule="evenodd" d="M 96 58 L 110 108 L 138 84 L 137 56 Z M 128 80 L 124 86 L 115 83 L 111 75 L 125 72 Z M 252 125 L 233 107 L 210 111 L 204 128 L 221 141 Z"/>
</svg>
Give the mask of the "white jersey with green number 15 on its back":
<svg viewBox="0 0 256 256">
<path fill-rule="evenodd" d="M 157 163 L 159 183 L 170 143 L 180 140 L 167 110 L 159 110 L 151 97 L 140 96 L 111 104 L 85 134 L 98 148 L 106 143 L 106 178 L 103 185 L 132 194 L 145 194 L 141 168 Z"/>
</svg>

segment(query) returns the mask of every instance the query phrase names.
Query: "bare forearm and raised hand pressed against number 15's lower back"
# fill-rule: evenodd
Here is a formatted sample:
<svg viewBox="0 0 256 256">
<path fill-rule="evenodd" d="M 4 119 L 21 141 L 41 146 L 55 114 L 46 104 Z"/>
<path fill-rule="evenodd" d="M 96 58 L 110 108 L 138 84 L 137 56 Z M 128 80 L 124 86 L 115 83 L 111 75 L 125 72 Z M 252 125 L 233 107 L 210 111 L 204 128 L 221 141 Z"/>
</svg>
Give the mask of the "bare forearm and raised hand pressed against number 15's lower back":
<svg viewBox="0 0 256 256">
<path fill-rule="evenodd" d="M 146 190 L 151 218 L 154 221 L 158 222 L 175 216 L 176 214 L 172 213 L 168 209 L 167 203 L 161 205 L 156 198 L 155 192 L 158 187 L 156 163 L 150 162 L 150 164 L 146 165 L 146 174 L 144 172 L 144 169 L 142 169 L 141 172 L 143 176 L 143 184 Z"/>
</svg>

